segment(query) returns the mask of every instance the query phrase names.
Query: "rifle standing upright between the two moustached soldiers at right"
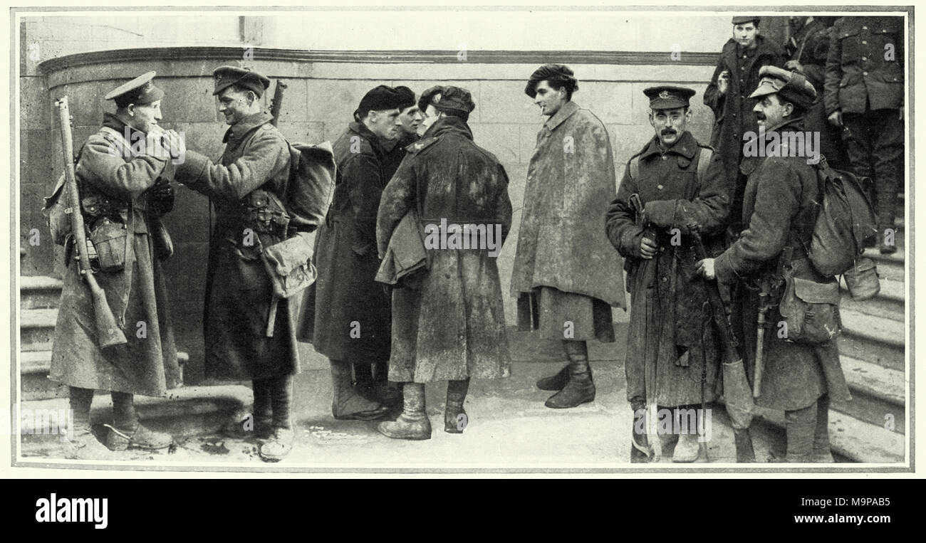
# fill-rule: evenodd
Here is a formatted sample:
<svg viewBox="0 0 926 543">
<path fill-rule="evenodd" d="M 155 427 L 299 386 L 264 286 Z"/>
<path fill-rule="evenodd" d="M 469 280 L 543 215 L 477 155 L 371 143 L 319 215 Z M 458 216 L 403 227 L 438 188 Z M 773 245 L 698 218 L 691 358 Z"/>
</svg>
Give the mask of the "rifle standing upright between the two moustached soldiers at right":
<svg viewBox="0 0 926 543">
<path fill-rule="evenodd" d="M 697 225 L 688 225 L 694 240 L 694 251 L 698 260 L 707 258 L 704 241 Z M 720 298 L 717 283 L 713 286 L 705 285 L 707 301 L 710 302 L 710 312 L 714 324 L 720 333 L 723 344 L 723 395 L 727 403 L 727 413 L 733 426 L 736 440 L 736 462 L 756 462 L 756 453 L 753 450 L 752 438 L 749 436 L 749 426 L 752 425 L 753 397 L 746 380 L 743 354 L 740 352 L 740 343 L 733 334 L 730 317 Z"/>
</svg>

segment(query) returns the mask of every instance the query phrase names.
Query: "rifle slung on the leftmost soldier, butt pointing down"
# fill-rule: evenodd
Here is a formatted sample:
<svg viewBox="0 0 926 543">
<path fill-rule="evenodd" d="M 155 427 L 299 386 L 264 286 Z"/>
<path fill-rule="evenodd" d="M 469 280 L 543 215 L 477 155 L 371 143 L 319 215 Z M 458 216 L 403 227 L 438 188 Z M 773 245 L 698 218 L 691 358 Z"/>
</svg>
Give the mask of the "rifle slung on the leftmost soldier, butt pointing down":
<svg viewBox="0 0 926 543">
<path fill-rule="evenodd" d="M 68 191 L 68 206 L 70 213 L 71 234 L 74 236 L 74 247 L 77 255 L 74 260 L 78 262 L 78 271 L 90 289 L 94 302 L 94 316 L 96 321 L 96 341 L 101 349 L 114 345 L 128 343 L 125 334 L 116 324 L 116 317 L 106 302 L 106 292 L 100 288 L 94 278 L 90 267 L 90 257 L 87 255 L 87 233 L 83 226 L 81 214 L 81 196 L 77 189 L 77 176 L 74 172 L 74 143 L 70 134 L 70 109 L 68 97 L 65 96 L 56 102 L 58 108 L 58 121 L 61 128 L 61 148 L 64 152 L 65 186 Z"/>
</svg>

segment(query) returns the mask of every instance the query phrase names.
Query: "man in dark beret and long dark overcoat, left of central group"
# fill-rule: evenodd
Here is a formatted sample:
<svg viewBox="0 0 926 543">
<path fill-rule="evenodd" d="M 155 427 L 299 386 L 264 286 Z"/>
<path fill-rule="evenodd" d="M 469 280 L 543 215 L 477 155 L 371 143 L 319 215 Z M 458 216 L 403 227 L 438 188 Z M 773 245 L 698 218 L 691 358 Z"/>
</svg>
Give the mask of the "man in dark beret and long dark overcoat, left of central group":
<svg viewBox="0 0 926 543">
<path fill-rule="evenodd" d="M 382 418 L 398 402 L 397 390 L 390 389 L 386 380 L 390 297 L 374 280 L 380 266 L 376 213 L 389 181 L 383 175 L 382 144 L 398 137 L 400 108 L 408 100 L 386 85 L 370 90 L 357 107 L 358 120 L 333 146 L 334 197 L 316 238 L 319 278 L 308 289 L 300 339 L 311 342 L 331 361 L 336 419 Z M 351 386 L 351 364 L 361 384 L 358 389 Z M 375 395 L 363 386 L 370 379 Z M 391 401 L 392 405 L 383 404 Z"/>
</svg>

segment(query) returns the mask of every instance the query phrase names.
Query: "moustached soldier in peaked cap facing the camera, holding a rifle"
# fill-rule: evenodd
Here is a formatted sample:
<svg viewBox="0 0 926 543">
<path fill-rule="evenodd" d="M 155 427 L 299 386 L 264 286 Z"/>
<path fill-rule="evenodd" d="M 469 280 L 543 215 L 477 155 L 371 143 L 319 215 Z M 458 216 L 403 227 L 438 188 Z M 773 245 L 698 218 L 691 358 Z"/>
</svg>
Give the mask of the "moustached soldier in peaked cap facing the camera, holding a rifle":
<svg viewBox="0 0 926 543">
<path fill-rule="evenodd" d="M 627 400 L 635 417 L 645 415 L 647 403 L 683 416 L 714 401 L 720 364 L 718 335 L 705 319 L 707 293 L 694 284 L 702 279 L 694 275 L 690 228 L 696 226 L 708 247 L 722 249 L 730 183 L 720 157 L 711 160 L 712 149 L 686 130 L 694 91 L 664 85 L 644 94 L 656 135 L 627 163 L 618 197 L 607 211 L 607 237 L 626 259 L 631 292 Z M 645 382 L 647 367 L 655 367 L 649 374 L 655 383 Z M 647 391 L 655 399 L 647 398 Z M 652 444 L 636 431 L 632 438 L 637 447 L 631 458 L 641 460 L 637 451 Z M 694 462 L 699 450 L 690 428 L 679 436 L 672 461 Z"/>
</svg>

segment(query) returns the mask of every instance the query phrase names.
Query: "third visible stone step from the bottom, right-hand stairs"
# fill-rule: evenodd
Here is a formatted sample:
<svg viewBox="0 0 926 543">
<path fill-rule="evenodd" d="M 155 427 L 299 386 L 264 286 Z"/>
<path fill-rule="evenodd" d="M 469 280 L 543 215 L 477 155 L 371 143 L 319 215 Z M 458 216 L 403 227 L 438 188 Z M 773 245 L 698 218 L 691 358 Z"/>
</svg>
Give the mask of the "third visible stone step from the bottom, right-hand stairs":
<svg viewBox="0 0 926 543">
<path fill-rule="evenodd" d="M 906 339 L 903 322 L 864 315 L 850 309 L 841 310 L 840 315 L 844 330 L 838 339 L 839 352 L 849 358 L 904 370 Z"/>
</svg>

